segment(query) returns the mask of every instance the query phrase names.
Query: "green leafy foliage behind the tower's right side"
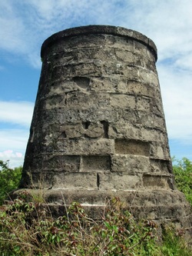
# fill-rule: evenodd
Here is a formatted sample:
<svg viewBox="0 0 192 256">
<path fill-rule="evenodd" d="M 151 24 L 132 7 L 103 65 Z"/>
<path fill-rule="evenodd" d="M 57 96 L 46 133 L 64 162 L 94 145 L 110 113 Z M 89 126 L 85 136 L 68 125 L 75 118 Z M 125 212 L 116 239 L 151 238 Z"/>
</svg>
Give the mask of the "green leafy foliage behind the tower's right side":
<svg viewBox="0 0 192 256">
<path fill-rule="evenodd" d="M 192 161 L 187 158 L 173 158 L 173 169 L 177 189 L 182 191 L 192 204 Z"/>
</svg>

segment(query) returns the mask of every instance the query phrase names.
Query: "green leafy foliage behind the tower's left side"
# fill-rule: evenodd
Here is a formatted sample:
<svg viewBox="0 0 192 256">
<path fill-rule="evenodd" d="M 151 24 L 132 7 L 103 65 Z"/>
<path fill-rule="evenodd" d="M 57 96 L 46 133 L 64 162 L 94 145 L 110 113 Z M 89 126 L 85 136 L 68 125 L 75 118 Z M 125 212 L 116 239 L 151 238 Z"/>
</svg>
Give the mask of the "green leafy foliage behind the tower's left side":
<svg viewBox="0 0 192 256">
<path fill-rule="evenodd" d="M 18 188 L 22 177 L 22 166 L 14 169 L 8 167 L 8 161 L 0 160 L 0 204 L 3 203 L 8 193 Z"/>
</svg>

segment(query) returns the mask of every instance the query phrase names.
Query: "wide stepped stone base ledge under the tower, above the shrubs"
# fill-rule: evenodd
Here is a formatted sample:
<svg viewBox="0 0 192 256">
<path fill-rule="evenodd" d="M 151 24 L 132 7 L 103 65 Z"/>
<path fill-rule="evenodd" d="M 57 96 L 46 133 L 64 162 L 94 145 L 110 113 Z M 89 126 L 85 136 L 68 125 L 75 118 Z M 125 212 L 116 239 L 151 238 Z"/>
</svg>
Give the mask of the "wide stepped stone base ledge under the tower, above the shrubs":
<svg viewBox="0 0 192 256">
<path fill-rule="evenodd" d="M 65 190 L 65 189 L 20 189 L 12 192 L 12 199 L 18 197 L 21 191 L 28 191 L 31 197 L 42 201 L 43 207 L 48 207 L 55 217 L 66 214 L 71 202 L 78 202 L 88 215 L 100 220 L 104 208 L 111 198 L 120 198 L 128 211 L 136 219 L 150 219 L 160 228 L 164 224 L 174 224 L 176 228 L 185 228 L 187 236 L 192 235 L 192 211 L 184 194 L 177 190 L 144 190 L 144 191 L 98 191 L 98 190 Z M 39 197 L 39 198 L 38 198 Z M 46 202 L 46 203 L 45 203 Z"/>
</svg>

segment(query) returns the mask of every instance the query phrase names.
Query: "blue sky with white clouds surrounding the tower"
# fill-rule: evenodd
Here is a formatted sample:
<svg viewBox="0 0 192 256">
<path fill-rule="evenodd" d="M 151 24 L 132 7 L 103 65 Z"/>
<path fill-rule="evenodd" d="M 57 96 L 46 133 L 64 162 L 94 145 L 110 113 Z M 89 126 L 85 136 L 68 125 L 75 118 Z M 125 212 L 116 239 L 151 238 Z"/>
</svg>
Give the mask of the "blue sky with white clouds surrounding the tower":
<svg viewBox="0 0 192 256">
<path fill-rule="evenodd" d="M 170 155 L 192 160 L 191 0 L 6 0 L 0 2 L 0 159 L 23 164 L 41 71 L 41 44 L 81 25 L 118 25 L 151 38 Z"/>
</svg>

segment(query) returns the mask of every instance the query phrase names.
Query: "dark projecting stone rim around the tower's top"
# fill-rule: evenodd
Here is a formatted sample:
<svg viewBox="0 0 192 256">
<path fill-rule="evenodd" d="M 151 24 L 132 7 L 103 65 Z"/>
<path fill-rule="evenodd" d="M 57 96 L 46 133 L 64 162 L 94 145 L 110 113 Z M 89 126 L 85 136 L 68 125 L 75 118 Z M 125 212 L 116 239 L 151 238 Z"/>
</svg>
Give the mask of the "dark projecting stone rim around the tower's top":
<svg viewBox="0 0 192 256">
<path fill-rule="evenodd" d="M 150 48 L 151 52 L 154 54 L 155 60 L 157 61 L 157 47 L 154 42 L 147 38 L 146 35 L 140 32 L 134 31 L 132 29 L 123 28 L 113 25 L 85 25 L 80 27 L 68 28 L 48 37 L 41 46 L 41 58 L 43 58 L 45 51 L 53 45 L 55 42 L 60 40 L 65 40 L 65 38 L 70 38 L 78 35 L 118 35 L 125 38 L 132 38 L 134 41 L 140 42 Z"/>
</svg>

